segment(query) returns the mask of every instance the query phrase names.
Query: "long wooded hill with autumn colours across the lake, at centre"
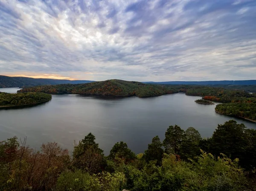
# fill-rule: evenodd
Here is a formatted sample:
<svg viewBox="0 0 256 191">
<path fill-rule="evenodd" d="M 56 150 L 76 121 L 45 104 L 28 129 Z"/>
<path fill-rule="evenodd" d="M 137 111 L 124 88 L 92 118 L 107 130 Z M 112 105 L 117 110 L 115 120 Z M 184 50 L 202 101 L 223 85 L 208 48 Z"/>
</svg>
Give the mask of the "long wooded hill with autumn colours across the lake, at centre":
<svg viewBox="0 0 256 191">
<path fill-rule="evenodd" d="M 61 84 L 23 88 L 19 92 L 44 92 L 49 94 L 93 94 L 111 96 L 151 97 L 176 93 L 171 86 L 150 85 L 134 81 L 106 80 L 84 84 Z"/>
</svg>

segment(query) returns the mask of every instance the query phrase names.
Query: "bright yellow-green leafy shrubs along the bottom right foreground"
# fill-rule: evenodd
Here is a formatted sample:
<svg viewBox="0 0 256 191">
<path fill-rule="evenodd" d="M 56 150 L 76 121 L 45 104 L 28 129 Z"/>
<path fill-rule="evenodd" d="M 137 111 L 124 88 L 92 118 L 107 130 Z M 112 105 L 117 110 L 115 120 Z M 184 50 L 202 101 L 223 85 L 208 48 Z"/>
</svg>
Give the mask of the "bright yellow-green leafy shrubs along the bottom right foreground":
<svg viewBox="0 0 256 191">
<path fill-rule="evenodd" d="M 192 162 L 165 154 L 162 166 L 150 162 L 138 170 L 128 165 L 125 176 L 131 191 L 240 191 L 247 188 L 238 160 L 225 156 L 215 158 L 205 152 Z"/>
</svg>

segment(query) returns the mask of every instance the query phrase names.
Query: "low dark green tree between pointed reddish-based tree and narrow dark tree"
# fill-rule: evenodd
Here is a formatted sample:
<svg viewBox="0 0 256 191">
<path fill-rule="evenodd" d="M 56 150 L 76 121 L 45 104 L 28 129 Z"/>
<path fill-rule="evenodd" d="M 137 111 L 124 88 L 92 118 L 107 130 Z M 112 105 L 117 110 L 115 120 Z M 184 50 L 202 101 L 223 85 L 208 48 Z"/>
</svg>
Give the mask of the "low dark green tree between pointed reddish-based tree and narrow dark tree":
<svg viewBox="0 0 256 191">
<path fill-rule="evenodd" d="M 122 141 L 113 146 L 108 157 L 111 160 L 114 160 L 117 157 L 125 160 L 125 162 L 130 162 L 136 158 L 134 152 L 132 152 L 131 149 L 128 148 L 127 144 Z"/>
</svg>

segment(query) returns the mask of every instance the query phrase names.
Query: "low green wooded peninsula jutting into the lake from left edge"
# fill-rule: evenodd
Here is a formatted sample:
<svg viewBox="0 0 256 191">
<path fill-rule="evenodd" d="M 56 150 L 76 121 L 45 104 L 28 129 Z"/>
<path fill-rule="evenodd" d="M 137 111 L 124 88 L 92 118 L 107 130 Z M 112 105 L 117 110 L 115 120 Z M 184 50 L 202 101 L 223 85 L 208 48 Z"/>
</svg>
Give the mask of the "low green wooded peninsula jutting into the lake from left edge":
<svg viewBox="0 0 256 191">
<path fill-rule="evenodd" d="M 52 99 L 52 96 L 44 93 L 29 92 L 8 94 L 0 92 L 0 107 L 35 104 L 50 99 Z"/>
</svg>

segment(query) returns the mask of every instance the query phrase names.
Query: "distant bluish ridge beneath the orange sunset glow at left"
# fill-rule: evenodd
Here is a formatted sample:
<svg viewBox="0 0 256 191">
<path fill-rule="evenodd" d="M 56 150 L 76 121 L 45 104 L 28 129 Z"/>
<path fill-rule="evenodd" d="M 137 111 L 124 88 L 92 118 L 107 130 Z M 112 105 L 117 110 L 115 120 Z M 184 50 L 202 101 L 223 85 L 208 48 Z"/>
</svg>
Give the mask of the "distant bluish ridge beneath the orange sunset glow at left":
<svg viewBox="0 0 256 191">
<path fill-rule="evenodd" d="M 56 80 L 46 78 L 31 78 L 31 77 L 9 77 L 0 76 L 0 88 L 23 87 L 23 86 L 40 86 L 40 85 L 55 85 L 55 84 L 79 84 L 90 83 L 89 80 Z"/>
</svg>

